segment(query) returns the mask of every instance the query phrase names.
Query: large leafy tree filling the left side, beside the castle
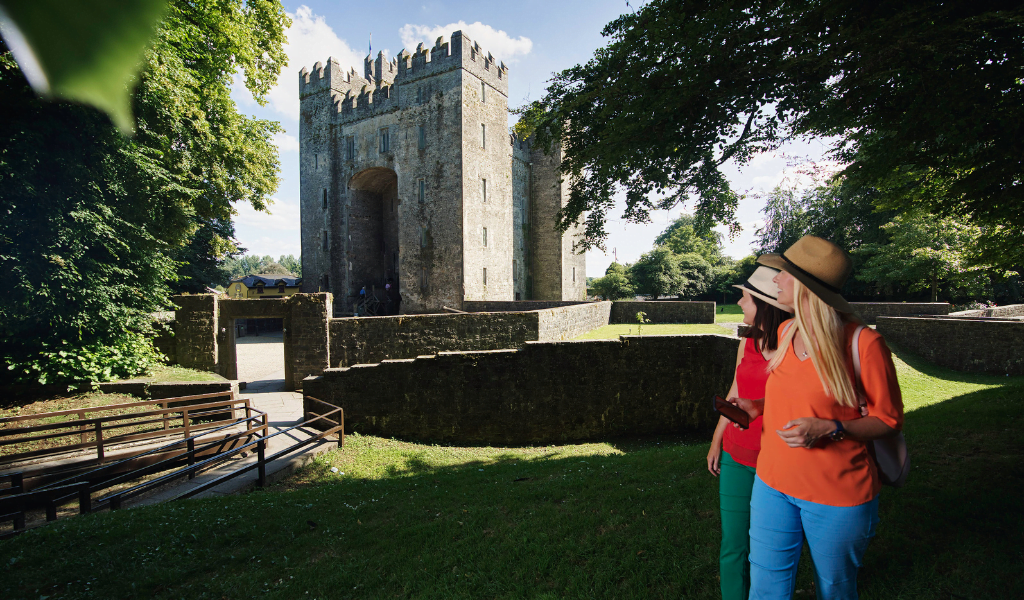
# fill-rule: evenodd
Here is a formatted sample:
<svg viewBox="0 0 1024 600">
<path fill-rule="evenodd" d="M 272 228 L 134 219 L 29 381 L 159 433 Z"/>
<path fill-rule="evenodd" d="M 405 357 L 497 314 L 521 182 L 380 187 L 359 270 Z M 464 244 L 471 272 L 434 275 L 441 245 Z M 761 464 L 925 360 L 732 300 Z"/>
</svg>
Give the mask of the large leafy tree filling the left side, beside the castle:
<svg viewBox="0 0 1024 600">
<path fill-rule="evenodd" d="M 173 2 L 132 96 L 134 137 L 35 97 L 0 44 L 0 377 L 95 381 L 153 359 L 174 258 L 204 227 L 193 250 L 227 252 L 232 203 L 263 209 L 276 188 L 280 127 L 240 115 L 229 92 L 242 75 L 262 100 L 287 25 L 275 1 Z"/>
</svg>

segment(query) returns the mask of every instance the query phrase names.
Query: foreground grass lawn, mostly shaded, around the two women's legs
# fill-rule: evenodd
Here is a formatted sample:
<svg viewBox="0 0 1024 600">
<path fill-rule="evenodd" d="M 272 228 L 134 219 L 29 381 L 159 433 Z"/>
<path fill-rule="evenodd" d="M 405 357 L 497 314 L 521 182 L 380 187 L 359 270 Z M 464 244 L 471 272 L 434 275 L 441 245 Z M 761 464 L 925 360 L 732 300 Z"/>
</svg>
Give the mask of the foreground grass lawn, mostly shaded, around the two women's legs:
<svg viewBox="0 0 1024 600">
<path fill-rule="evenodd" d="M 882 492 L 861 598 L 1024 597 L 1024 378 L 904 354 L 897 369 L 913 469 Z M 272 490 L 0 542 L 0 596 L 717 598 L 707 452 L 705 435 L 520 448 L 352 435 Z M 797 598 L 810 581 L 805 557 Z"/>
</svg>

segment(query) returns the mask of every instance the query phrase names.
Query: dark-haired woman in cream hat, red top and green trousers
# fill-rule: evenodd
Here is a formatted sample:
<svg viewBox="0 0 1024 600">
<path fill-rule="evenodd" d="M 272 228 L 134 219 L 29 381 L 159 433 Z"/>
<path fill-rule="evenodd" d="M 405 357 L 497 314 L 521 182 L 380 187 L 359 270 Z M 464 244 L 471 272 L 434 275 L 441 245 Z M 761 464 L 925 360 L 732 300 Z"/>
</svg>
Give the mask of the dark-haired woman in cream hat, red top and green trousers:
<svg viewBox="0 0 1024 600">
<path fill-rule="evenodd" d="M 765 395 L 768 361 L 778 347 L 778 326 L 793 312 L 793 308 L 776 298 L 778 288 L 772 283 L 772 277 L 777 273 L 773 268 L 758 267 L 743 285 L 734 286 L 743 291 L 739 307 L 743 310 L 743 324 L 749 329 L 743 334 L 746 339 L 739 344 L 736 354 L 736 374 L 728 394 L 730 399 L 761 399 Z M 728 423 L 725 417 L 719 418 L 708 452 L 708 470 L 719 477 L 722 598 L 745 600 L 750 588 L 746 555 L 750 550 L 751 488 L 761 448 L 761 419 L 752 421 L 745 430 L 729 427 Z"/>
</svg>

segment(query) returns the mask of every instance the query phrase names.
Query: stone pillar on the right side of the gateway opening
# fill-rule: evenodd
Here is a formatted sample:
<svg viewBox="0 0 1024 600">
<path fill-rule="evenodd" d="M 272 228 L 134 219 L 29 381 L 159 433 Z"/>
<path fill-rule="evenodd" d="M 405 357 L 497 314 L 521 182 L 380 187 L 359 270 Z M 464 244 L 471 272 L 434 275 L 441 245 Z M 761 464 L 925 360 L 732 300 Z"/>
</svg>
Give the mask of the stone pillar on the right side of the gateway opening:
<svg viewBox="0 0 1024 600">
<path fill-rule="evenodd" d="M 296 294 L 288 299 L 291 310 L 285 318 L 285 382 L 300 389 L 309 375 L 321 375 L 331 366 L 329 336 L 332 295 Z"/>
</svg>

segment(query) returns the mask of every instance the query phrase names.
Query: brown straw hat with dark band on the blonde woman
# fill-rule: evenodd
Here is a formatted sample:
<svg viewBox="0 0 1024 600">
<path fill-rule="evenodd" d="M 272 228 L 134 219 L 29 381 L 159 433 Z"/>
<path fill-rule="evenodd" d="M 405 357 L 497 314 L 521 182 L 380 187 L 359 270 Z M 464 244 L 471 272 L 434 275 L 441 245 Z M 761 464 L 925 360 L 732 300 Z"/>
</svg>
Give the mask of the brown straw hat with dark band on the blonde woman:
<svg viewBox="0 0 1024 600">
<path fill-rule="evenodd" d="M 765 254 L 758 262 L 784 270 L 840 312 L 855 312 L 840 292 L 853 270 L 846 252 L 827 240 L 804 235 L 782 254 Z"/>
</svg>

